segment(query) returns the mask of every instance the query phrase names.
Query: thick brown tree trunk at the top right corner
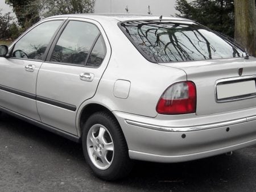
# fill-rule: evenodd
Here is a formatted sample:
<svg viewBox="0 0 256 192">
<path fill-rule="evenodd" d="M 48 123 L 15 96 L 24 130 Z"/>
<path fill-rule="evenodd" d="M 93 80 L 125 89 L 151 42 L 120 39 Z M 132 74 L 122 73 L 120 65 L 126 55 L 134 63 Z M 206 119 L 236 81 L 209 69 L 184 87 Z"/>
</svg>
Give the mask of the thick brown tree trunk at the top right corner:
<svg viewBox="0 0 256 192">
<path fill-rule="evenodd" d="M 255 1 L 234 0 L 235 39 L 255 56 Z"/>
</svg>

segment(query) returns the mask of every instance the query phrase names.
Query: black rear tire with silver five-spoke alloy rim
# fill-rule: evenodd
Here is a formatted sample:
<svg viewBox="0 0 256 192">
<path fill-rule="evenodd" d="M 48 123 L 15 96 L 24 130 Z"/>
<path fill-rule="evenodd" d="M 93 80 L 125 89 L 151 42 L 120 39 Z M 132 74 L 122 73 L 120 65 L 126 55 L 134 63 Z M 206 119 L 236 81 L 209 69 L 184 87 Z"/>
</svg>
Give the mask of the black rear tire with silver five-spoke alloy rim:
<svg viewBox="0 0 256 192">
<path fill-rule="evenodd" d="M 107 112 L 91 115 L 82 130 L 86 162 L 97 177 L 113 181 L 127 176 L 133 162 L 117 120 Z"/>
</svg>

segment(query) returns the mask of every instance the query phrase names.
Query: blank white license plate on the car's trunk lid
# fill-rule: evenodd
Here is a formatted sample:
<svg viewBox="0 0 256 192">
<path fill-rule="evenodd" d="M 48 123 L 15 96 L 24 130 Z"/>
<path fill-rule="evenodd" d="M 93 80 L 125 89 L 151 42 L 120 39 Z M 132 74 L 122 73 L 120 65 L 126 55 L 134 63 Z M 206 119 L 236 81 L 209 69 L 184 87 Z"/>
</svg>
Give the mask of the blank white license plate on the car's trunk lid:
<svg viewBox="0 0 256 192">
<path fill-rule="evenodd" d="M 238 97 L 256 93 L 255 81 L 243 81 L 217 85 L 217 99 Z"/>
</svg>

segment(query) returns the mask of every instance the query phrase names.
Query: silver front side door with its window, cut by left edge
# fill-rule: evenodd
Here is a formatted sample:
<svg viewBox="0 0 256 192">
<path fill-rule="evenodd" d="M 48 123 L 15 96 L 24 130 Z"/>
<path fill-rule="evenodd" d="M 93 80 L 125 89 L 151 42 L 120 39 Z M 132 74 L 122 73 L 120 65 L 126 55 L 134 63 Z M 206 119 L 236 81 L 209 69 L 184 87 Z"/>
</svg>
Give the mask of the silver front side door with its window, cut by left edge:
<svg viewBox="0 0 256 192">
<path fill-rule="evenodd" d="M 0 106 L 40 121 L 36 108 L 36 78 L 47 47 L 61 20 L 47 20 L 31 28 L 0 58 Z"/>
</svg>

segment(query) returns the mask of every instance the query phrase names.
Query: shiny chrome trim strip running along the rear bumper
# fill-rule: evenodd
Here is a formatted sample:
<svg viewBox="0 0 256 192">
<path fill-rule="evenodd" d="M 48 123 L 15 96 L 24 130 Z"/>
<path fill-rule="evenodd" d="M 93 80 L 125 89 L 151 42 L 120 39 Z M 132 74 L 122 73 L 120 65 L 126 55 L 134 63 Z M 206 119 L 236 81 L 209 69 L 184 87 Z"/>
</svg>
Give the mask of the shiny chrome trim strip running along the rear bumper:
<svg viewBox="0 0 256 192">
<path fill-rule="evenodd" d="M 208 130 L 210 128 L 217 128 L 217 127 L 232 126 L 233 124 L 246 123 L 252 120 L 256 120 L 256 115 L 249 116 L 246 118 L 241 118 L 241 119 L 228 120 L 226 122 L 203 124 L 203 125 L 197 125 L 197 126 L 187 126 L 187 127 L 165 127 L 165 126 L 158 126 L 154 124 L 136 122 L 134 120 L 129 120 L 129 119 L 125 119 L 125 122 L 132 126 L 148 128 L 151 130 L 166 131 L 166 132 L 188 132 L 188 131 Z"/>
</svg>

